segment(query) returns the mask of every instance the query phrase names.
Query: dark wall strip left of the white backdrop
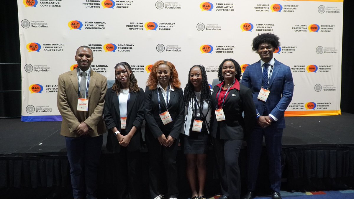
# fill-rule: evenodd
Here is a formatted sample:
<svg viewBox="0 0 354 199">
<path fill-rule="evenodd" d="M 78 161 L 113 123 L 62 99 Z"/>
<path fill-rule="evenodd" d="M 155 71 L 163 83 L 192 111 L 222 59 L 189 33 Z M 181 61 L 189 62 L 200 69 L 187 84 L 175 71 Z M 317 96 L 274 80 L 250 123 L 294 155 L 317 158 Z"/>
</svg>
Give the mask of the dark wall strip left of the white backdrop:
<svg viewBox="0 0 354 199">
<path fill-rule="evenodd" d="M 0 118 L 21 116 L 21 58 L 17 1 L 0 6 Z M 18 64 L 9 64 L 18 63 Z M 14 91 L 17 92 L 2 92 Z"/>
</svg>

